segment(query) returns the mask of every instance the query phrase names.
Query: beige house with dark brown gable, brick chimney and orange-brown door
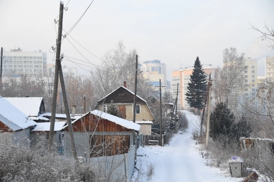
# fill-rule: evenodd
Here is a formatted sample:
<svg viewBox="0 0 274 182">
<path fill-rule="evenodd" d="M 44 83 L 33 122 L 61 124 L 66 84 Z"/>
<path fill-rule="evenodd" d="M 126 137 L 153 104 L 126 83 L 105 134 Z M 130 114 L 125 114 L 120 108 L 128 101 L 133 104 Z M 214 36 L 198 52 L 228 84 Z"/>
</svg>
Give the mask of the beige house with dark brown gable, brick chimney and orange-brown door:
<svg viewBox="0 0 274 182">
<path fill-rule="evenodd" d="M 117 106 L 122 118 L 133 121 L 133 104 L 134 93 L 124 86 L 118 87 L 113 92 L 106 95 L 97 102 L 95 109 L 106 112 L 111 101 Z M 135 122 L 141 125 L 140 132 L 146 135 L 151 135 L 151 125 L 155 120 L 147 102 L 136 96 L 136 120 Z"/>
</svg>

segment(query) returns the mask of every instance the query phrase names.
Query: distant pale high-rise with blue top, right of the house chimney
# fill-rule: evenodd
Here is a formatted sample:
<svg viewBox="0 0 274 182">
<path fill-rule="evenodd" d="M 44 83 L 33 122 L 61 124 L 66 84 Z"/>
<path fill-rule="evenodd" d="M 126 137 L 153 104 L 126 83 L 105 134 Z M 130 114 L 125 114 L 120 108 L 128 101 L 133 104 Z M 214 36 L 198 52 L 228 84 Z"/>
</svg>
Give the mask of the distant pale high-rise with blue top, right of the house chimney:
<svg viewBox="0 0 274 182">
<path fill-rule="evenodd" d="M 163 85 L 166 85 L 166 64 L 160 60 L 144 61 L 141 66 L 143 76 L 149 79 L 153 85 L 159 85 L 159 79 Z"/>
</svg>

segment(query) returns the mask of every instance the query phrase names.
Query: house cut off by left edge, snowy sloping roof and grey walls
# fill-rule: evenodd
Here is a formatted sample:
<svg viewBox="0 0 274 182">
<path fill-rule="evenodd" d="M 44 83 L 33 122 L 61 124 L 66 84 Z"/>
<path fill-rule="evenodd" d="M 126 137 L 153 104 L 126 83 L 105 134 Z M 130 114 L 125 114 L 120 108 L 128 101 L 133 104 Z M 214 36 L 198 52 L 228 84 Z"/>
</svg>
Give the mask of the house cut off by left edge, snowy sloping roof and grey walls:
<svg viewBox="0 0 274 182">
<path fill-rule="evenodd" d="M 0 143 L 19 144 L 23 138 L 29 146 L 30 130 L 37 123 L 0 96 Z"/>
</svg>

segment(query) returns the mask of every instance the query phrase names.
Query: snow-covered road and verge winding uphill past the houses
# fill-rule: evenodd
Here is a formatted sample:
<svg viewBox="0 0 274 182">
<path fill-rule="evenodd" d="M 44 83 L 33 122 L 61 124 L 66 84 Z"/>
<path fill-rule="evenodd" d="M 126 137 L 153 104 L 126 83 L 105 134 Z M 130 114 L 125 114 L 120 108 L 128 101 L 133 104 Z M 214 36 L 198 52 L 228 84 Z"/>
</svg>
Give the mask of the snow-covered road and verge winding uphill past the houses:
<svg viewBox="0 0 274 182">
<path fill-rule="evenodd" d="M 138 181 L 153 182 L 238 182 L 242 178 L 233 178 L 227 171 L 206 166 L 206 160 L 199 155 L 199 146 L 192 140 L 192 130 L 199 126 L 198 117 L 184 111 L 189 128 L 183 134 L 172 138 L 170 145 L 145 146 L 137 150 L 136 167 L 139 169 Z M 154 166 L 151 179 L 147 176 L 149 166 Z"/>
</svg>

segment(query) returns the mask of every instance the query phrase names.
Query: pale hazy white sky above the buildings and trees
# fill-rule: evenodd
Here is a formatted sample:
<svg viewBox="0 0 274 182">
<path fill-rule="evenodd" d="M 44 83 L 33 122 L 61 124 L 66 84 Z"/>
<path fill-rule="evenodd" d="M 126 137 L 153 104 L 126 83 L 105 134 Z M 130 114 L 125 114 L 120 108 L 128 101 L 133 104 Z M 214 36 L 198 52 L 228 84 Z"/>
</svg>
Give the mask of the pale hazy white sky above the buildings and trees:
<svg viewBox="0 0 274 182">
<path fill-rule="evenodd" d="M 66 5 L 68 0 L 63 2 Z M 72 27 L 90 2 L 70 0 L 64 12 L 65 30 Z M 222 51 L 230 46 L 257 59 L 258 75 L 263 75 L 265 57 L 274 53 L 266 46 L 267 41 L 261 41 L 261 34 L 250 29 L 249 21 L 262 30 L 265 22 L 273 25 L 273 7 L 273 0 L 94 0 L 70 35 L 98 57 L 122 40 L 128 49 L 138 50 L 140 62 L 158 59 L 166 63 L 168 80 L 172 69 L 193 65 L 197 56 L 202 64 L 220 66 Z M 15 46 L 23 51 L 41 49 L 48 52 L 48 63 L 52 63 L 54 54 L 49 49 L 56 43 L 53 20 L 58 14 L 58 0 L 0 1 L 0 46 L 5 51 Z M 98 58 L 68 38 L 90 62 L 100 64 Z M 66 39 L 62 52 L 86 61 Z M 76 66 L 68 61 L 63 64 Z M 78 74 L 88 74 L 77 68 Z"/>
</svg>

